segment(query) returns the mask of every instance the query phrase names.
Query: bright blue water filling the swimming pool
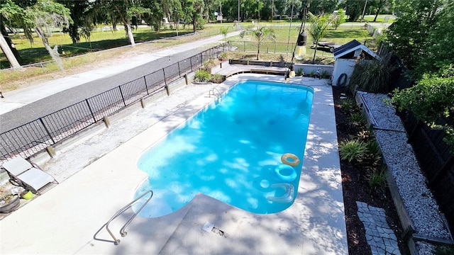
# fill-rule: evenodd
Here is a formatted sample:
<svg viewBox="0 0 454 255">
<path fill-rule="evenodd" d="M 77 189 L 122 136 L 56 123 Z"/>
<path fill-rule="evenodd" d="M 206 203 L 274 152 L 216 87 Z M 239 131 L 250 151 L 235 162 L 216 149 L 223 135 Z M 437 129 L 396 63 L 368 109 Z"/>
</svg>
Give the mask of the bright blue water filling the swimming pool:
<svg viewBox="0 0 454 255">
<path fill-rule="evenodd" d="M 312 97 L 306 86 L 265 81 L 233 86 L 219 103 L 141 155 L 138 168 L 149 177 L 135 196 L 149 189 L 154 196 L 139 215 L 167 215 L 198 192 L 255 213 L 288 208 L 298 190 Z M 300 159 L 297 178 L 289 181 L 292 190 L 275 173 L 284 153 Z M 289 192 L 289 200 L 268 199 Z"/>
</svg>

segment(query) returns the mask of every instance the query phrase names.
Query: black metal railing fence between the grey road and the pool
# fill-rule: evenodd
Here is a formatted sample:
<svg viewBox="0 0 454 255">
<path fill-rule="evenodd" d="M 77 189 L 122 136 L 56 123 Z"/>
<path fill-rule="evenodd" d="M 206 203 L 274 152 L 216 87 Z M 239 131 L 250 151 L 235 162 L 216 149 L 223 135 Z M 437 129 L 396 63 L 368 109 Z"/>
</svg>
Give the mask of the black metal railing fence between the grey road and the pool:
<svg viewBox="0 0 454 255">
<path fill-rule="evenodd" d="M 21 155 L 30 157 L 50 145 L 101 121 L 141 98 L 165 89 L 167 84 L 202 67 L 203 62 L 226 49 L 223 43 L 156 72 L 147 74 L 114 89 L 87 98 L 60 111 L 50 113 L 12 130 L 0 134 L 0 162 Z"/>
</svg>

